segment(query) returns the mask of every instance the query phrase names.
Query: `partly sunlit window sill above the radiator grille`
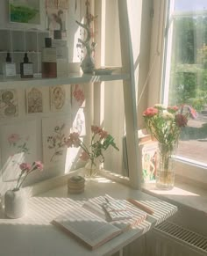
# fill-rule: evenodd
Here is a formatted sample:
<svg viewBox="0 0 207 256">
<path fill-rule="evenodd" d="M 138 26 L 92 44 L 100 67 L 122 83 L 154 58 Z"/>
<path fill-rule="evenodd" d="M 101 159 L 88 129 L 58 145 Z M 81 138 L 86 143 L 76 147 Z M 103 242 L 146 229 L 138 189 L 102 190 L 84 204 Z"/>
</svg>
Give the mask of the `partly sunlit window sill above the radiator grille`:
<svg viewBox="0 0 207 256">
<path fill-rule="evenodd" d="M 157 189 L 155 183 L 143 184 L 142 190 L 178 207 L 173 222 L 207 236 L 207 186 L 199 187 L 198 183 L 179 178 L 175 178 L 175 187 L 169 191 Z"/>
</svg>

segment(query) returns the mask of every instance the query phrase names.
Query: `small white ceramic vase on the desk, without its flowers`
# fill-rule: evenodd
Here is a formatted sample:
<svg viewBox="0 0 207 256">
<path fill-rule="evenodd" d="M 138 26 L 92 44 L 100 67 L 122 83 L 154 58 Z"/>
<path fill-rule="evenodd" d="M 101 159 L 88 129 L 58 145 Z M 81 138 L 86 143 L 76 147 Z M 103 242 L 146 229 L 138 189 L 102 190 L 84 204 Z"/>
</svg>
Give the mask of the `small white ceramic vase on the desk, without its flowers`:
<svg viewBox="0 0 207 256">
<path fill-rule="evenodd" d="M 4 195 L 4 210 L 6 216 L 17 219 L 25 216 L 26 195 L 22 189 L 8 190 Z"/>
</svg>

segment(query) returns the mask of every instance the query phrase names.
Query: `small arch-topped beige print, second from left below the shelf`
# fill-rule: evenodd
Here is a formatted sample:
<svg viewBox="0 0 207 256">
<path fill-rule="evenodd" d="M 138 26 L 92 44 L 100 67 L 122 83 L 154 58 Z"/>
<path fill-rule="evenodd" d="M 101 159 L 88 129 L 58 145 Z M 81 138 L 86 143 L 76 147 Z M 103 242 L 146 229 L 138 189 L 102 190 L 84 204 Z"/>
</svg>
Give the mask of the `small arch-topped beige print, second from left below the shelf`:
<svg viewBox="0 0 207 256">
<path fill-rule="evenodd" d="M 37 88 L 26 90 L 27 113 L 43 113 L 42 91 Z"/>
</svg>

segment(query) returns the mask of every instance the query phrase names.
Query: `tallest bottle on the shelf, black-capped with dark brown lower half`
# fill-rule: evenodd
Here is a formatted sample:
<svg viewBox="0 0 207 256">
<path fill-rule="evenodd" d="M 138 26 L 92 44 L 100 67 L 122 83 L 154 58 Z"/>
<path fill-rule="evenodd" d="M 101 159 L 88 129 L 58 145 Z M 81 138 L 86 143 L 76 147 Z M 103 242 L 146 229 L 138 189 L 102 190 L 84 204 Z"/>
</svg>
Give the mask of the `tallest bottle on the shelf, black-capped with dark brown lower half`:
<svg viewBox="0 0 207 256">
<path fill-rule="evenodd" d="M 46 47 L 42 49 L 42 77 L 57 77 L 56 48 L 52 48 L 52 39 L 45 39 Z"/>
</svg>

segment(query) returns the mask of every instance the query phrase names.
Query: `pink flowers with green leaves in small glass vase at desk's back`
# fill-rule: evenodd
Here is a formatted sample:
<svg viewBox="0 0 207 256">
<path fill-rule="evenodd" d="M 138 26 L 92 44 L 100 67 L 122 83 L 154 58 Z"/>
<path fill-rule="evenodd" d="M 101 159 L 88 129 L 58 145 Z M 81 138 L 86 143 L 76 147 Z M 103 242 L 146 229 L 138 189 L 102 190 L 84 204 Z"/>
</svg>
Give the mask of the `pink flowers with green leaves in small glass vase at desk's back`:
<svg viewBox="0 0 207 256">
<path fill-rule="evenodd" d="M 116 143 L 114 143 L 114 138 L 107 131 L 103 130 L 103 128 L 93 125 L 91 126 L 91 132 L 92 136 L 89 147 L 82 142 L 80 135 L 75 132 L 71 133 L 66 140 L 68 148 L 82 148 L 80 159 L 88 162 L 86 164 L 86 177 L 96 176 L 98 165 L 104 162 L 103 152 L 105 150 L 110 146 L 118 150 Z"/>
</svg>

